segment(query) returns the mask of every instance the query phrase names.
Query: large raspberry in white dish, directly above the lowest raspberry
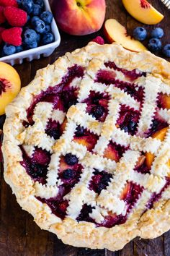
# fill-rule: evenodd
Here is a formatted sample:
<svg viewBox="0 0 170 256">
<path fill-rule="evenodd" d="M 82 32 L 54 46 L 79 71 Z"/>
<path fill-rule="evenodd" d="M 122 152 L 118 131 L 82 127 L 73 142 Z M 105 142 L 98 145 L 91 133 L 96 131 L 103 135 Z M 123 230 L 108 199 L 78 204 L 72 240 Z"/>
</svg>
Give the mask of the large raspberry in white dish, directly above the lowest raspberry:
<svg viewBox="0 0 170 256">
<path fill-rule="evenodd" d="M 4 9 L 4 15 L 12 27 L 22 27 L 27 22 L 27 12 L 16 7 L 6 7 Z"/>
</svg>

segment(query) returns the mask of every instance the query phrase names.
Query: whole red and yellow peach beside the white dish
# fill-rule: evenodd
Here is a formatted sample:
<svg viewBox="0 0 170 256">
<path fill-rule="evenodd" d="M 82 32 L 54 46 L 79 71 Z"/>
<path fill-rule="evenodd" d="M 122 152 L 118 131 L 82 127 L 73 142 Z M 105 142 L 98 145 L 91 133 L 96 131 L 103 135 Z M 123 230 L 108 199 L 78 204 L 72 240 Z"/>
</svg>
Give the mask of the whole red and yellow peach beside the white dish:
<svg viewBox="0 0 170 256">
<path fill-rule="evenodd" d="M 71 35 L 88 35 L 98 31 L 104 22 L 105 0 L 53 0 L 58 26 Z"/>
</svg>

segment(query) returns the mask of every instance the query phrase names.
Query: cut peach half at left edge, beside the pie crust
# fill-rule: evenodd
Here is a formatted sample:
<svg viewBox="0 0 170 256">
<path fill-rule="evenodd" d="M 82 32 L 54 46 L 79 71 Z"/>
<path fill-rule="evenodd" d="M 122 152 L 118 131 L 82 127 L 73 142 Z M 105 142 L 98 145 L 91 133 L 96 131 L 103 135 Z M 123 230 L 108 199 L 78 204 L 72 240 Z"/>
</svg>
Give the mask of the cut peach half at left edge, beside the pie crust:
<svg viewBox="0 0 170 256">
<path fill-rule="evenodd" d="M 21 80 L 17 71 L 4 62 L 0 62 L 0 115 L 5 114 L 6 106 L 14 100 L 21 89 Z"/>
</svg>

